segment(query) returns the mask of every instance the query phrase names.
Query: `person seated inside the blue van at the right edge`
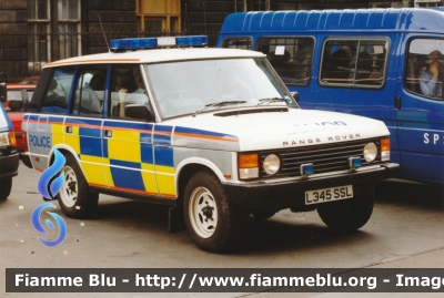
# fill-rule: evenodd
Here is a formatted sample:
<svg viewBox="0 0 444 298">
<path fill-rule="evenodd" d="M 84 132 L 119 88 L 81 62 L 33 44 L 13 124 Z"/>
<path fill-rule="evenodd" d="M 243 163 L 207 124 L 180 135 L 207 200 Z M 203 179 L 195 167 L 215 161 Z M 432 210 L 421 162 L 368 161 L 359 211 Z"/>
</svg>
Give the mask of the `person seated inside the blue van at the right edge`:
<svg viewBox="0 0 444 298">
<path fill-rule="evenodd" d="M 444 79 L 444 70 L 441 65 L 442 54 L 435 50 L 428 54 L 428 58 L 427 70 L 420 74 L 421 93 L 426 96 L 442 99 Z"/>
</svg>

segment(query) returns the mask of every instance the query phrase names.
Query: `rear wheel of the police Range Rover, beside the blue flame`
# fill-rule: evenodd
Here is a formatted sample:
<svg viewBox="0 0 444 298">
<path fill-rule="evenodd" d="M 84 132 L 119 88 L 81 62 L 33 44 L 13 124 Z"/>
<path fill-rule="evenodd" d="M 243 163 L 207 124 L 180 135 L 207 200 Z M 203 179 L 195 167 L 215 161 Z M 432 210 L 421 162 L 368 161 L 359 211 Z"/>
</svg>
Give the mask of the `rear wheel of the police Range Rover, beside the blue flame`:
<svg viewBox="0 0 444 298">
<path fill-rule="evenodd" d="M 91 193 L 79 164 L 72 155 L 65 155 L 67 162 L 62 168 L 64 182 L 57 195 L 60 207 L 65 215 L 73 218 L 84 218 L 94 214 L 99 194 Z"/>
</svg>

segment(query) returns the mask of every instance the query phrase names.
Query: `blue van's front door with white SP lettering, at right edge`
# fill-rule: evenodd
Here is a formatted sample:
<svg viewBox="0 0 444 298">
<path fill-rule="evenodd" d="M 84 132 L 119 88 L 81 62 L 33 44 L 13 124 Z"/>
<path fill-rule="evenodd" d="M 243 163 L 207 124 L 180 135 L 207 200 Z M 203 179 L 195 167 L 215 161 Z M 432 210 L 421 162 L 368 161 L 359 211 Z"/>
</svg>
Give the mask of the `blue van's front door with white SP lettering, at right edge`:
<svg viewBox="0 0 444 298">
<path fill-rule="evenodd" d="M 444 39 L 405 34 L 402 44 L 396 94 L 402 175 L 444 184 Z"/>
</svg>

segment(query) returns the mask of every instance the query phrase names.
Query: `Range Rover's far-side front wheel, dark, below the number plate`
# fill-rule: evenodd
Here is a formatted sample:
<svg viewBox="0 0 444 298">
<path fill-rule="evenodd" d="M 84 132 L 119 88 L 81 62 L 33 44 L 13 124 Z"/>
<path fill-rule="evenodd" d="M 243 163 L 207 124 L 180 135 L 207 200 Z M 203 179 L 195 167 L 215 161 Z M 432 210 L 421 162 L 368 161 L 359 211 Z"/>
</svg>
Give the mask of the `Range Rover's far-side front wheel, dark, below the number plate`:
<svg viewBox="0 0 444 298">
<path fill-rule="evenodd" d="M 317 213 L 322 222 L 339 232 L 352 232 L 364 226 L 372 215 L 374 202 L 373 187 L 351 199 L 320 204 Z"/>
</svg>

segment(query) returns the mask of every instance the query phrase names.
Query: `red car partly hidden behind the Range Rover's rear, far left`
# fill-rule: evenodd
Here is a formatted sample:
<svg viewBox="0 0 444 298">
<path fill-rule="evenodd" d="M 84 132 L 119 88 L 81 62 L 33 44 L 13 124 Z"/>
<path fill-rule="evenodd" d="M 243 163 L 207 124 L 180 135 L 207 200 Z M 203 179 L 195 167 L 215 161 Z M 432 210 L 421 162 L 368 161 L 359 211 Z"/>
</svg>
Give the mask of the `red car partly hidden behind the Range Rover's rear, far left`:
<svg viewBox="0 0 444 298">
<path fill-rule="evenodd" d="M 8 84 L 8 101 L 3 102 L 4 110 L 12 122 L 16 133 L 17 148 L 23 152 L 28 148 L 26 133 L 21 129 L 21 120 L 28 103 L 31 101 L 36 90 L 34 84 Z"/>
</svg>

